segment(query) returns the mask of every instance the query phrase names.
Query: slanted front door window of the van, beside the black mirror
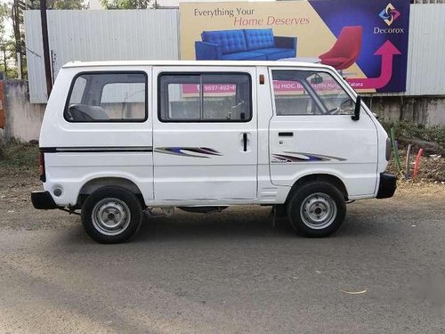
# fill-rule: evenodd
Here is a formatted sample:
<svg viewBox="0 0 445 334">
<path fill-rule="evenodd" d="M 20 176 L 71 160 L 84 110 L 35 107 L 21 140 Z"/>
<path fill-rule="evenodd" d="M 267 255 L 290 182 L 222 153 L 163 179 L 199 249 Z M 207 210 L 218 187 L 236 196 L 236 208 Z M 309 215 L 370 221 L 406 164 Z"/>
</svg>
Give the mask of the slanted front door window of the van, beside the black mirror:
<svg viewBox="0 0 445 334">
<path fill-rule="evenodd" d="M 354 102 L 327 72 L 272 70 L 275 109 L 285 115 L 352 115 Z"/>
</svg>

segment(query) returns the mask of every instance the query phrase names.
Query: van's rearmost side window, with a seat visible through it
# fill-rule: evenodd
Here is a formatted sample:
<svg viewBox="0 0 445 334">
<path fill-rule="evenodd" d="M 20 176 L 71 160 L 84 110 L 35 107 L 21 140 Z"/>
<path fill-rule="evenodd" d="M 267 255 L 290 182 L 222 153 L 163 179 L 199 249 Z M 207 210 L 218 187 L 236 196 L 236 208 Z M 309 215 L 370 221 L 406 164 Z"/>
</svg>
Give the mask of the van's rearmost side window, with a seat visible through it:
<svg viewBox="0 0 445 334">
<path fill-rule="evenodd" d="M 90 72 L 74 78 L 64 118 L 69 122 L 143 122 L 147 119 L 143 72 Z"/>
</svg>

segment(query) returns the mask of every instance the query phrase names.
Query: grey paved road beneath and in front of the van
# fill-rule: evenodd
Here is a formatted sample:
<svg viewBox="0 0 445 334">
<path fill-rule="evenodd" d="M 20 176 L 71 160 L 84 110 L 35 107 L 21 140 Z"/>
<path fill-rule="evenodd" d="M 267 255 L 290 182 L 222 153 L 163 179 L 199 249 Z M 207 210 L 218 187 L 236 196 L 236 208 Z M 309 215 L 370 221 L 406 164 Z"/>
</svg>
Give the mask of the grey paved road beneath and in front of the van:
<svg viewBox="0 0 445 334">
<path fill-rule="evenodd" d="M 0 201 L 0 333 L 445 333 L 444 193 L 353 203 L 327 239 L 249 207 L 109 246 Z"/>
</svg>

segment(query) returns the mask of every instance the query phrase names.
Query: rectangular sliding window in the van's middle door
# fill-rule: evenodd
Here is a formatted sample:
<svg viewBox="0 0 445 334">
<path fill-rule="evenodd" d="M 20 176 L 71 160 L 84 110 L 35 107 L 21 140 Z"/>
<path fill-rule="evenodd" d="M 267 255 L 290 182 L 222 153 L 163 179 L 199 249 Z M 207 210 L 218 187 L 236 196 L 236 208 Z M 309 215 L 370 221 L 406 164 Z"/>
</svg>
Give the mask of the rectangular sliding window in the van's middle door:
<svg viewBox="0 0 445 334">
<path fill-rule="evenodd" d="M 252 118 L 251 79 L 246 73 L 161 74 L 163 122 L 247 122 Z"/>
</svg>

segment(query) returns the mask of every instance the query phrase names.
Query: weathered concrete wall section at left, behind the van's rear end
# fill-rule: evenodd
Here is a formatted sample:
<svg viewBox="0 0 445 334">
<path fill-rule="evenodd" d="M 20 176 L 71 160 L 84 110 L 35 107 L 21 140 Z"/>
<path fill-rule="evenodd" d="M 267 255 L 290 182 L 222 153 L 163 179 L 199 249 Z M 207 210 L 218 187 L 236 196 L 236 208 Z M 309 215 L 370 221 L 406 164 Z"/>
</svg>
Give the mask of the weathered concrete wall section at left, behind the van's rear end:
<svg viewBox="0 0 445 334">
<path fill-rule="evenodd" d="M 29 102 L 27 81 L 4 80 L 3 83 L 6 120 L 4 129 L 0 129 L 0 141 L 7 143 L 14 139 L 20 142 L 38 140 L 45 105 Z"/>
</svg>

